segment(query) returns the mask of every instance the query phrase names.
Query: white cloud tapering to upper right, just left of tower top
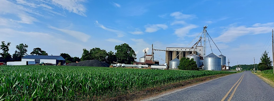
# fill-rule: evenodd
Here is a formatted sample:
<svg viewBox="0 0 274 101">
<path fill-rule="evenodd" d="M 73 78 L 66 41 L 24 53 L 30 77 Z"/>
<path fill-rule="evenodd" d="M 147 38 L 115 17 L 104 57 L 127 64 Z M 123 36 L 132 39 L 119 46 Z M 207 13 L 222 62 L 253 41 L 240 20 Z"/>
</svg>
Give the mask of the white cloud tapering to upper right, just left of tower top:
<svg viewBox="0 0 274 101">
<path fill-rule="evenodd" d="M 190 24 L 190 25 L 184 26 L 182 28 L 175 29 L 174 34 L 180 38 L 184 38 L 189 33 L 189 31 L 191 29 L 195 29 L 197 27 L 198 27 L 197 25 Z"/>
</svg>

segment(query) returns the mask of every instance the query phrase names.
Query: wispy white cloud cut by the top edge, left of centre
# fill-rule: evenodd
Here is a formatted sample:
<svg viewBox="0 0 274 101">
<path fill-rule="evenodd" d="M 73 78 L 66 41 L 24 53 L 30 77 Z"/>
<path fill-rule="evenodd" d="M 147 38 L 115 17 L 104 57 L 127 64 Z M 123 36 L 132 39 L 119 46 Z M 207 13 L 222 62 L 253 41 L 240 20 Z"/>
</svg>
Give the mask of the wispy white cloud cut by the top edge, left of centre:
<svg viewBox="0 0 274 101">
<path fill-rule="evenodd" d="M 54 5 L 60 6 L 68 12 L 86 16 L 86 7 L 83 5 L 86 0 L 51 0 Z"/>
</svg>

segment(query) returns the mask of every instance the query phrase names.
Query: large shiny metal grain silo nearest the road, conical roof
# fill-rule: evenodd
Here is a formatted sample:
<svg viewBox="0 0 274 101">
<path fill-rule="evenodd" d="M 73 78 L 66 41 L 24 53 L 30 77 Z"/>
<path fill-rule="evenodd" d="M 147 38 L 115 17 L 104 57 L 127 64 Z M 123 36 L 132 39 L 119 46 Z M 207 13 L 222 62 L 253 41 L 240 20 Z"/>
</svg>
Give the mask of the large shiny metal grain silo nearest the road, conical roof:
<svg viewBox="0 0 274 101">
<path fill-rule="evenodd" d="M 205 70 L 222 70 L 221 58 L 214 53 L 209 54 L 204 58 Z"/>
</svg>

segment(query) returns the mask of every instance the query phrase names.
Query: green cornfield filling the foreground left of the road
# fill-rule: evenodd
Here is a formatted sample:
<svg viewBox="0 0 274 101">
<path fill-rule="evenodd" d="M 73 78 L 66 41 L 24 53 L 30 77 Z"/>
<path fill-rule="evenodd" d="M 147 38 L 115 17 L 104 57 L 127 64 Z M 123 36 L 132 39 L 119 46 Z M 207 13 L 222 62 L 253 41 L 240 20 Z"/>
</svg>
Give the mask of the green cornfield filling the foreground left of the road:
<svg viewBox="0 0 274 101">
<path fill-rule="evenodd" d="M 0 66 L 0 101 L 100 100 L 223 71 Z"/>
</svg>

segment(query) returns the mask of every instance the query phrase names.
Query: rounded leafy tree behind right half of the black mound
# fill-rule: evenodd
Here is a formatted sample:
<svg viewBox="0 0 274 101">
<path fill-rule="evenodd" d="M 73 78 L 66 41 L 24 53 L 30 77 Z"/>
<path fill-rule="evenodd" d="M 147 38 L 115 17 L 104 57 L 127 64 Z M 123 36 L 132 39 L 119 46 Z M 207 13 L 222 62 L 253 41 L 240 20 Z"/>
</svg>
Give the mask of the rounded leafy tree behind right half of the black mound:
<svg viewBox="0 0 274 101">
<path fill-rule="evenodd" d="M 90 55 L 92 59 L 105 62 L 107 60 L 107 51 L 100 48 L 90 49 Z"/>
</svg>

